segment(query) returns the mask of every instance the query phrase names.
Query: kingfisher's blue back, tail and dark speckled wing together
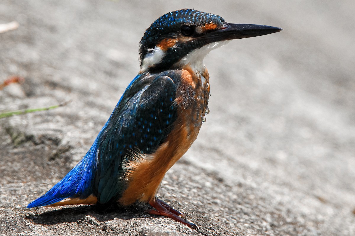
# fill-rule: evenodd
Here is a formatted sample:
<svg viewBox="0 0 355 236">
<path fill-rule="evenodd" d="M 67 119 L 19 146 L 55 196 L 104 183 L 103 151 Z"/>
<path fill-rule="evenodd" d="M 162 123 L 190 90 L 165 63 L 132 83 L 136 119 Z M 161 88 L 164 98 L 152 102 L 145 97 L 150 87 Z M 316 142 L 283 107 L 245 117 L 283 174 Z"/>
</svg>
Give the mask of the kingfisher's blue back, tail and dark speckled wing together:
<svg viewBox="0 0 355 236">
<path fill-rule="evenodd" d="M 27 207 L 47 206 L 64 198 L 94 194 L 101 204 L 126 189 L 122 162 L 132 150 L 152 153 L 176 119 L 175 84 L 168 76 L 138 75 L 127 87 L 109 120 L 83 159 L 45 195 Z M 121 181 L 120 181 L 121 180 Z"/>
</svg>

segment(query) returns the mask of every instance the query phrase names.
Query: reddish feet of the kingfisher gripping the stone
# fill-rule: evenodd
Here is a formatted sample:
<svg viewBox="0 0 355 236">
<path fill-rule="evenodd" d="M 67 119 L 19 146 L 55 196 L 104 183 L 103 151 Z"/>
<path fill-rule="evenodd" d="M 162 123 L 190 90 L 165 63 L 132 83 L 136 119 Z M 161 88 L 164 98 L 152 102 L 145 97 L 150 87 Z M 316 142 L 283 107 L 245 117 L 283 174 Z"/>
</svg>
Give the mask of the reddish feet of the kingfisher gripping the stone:
<svg viewBox="0 0 355 236">
<path fill-rule="evenodd" d="M 174 208 L 170 207 L 168 203 L 163 202 L 162 200 L 155 198 L 154 201 L 149 202 L 149 204 L 157 210 L 147 210 L 146 212 L 152 215 L 163 215 L 169 217 L 173 220 L 176 220 L 184 225 L 189 226 L 191 229 L 198 231 L 195 224 L 190 223 L 185 220 L 185 215 L 179 211 L 176 211 Z"/>
</svg>

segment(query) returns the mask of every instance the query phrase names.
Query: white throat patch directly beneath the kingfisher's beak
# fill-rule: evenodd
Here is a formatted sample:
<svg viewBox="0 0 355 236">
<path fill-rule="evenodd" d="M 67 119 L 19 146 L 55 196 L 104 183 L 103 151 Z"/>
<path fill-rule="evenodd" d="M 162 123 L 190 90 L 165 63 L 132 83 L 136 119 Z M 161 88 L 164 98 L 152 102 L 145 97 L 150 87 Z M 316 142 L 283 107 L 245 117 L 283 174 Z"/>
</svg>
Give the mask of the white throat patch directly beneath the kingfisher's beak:
<svg viewBox="0 0 355 236">
<path fill-rule="evenodd" d="M 181 58 L 178 63 L 180 67 L 183 67 L 184 65 L 189 65 L 192 71 L 203 71 L 203 59 L 207 56 L 207 54 L 215 48 L 219 48 L 223 45 L 228 44 L 229 41 L 230 40 L 212 42 L 210 44 L 204 45 L 203 47 L 197 48 L 189 52 L 185 57 Z"/>
</svg>

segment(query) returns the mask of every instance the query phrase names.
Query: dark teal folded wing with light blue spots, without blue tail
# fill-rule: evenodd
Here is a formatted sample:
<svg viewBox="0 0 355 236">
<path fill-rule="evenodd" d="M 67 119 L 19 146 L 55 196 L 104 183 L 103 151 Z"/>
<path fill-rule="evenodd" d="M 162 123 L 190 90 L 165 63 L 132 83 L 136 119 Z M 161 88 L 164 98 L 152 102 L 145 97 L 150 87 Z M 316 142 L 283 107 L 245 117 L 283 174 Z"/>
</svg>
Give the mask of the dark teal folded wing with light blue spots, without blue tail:
<svg viewBox="0 0 355 236">
<path fill-rule="evenodd" d="M 113 203 L 127 188 L 122 165 L 132 152 L 151 154 L 163 143 L 176 119 L 175 93 L 168 76 L 133 81 L 125 91 L 98 140 L 93 183 L 98 205 Z"/>
</svg>

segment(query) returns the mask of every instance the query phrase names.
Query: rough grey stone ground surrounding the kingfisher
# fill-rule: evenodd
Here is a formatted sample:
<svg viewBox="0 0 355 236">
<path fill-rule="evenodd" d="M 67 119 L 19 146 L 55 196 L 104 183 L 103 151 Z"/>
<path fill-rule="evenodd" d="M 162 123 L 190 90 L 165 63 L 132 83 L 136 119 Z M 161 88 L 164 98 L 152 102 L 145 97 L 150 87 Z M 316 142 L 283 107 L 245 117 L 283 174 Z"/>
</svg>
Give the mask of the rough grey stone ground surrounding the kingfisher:
<svg viewBox="0 0 355 236">
<path fill-rule="evenodd" d="M 0 2 L 1 235 L 355 235 L 354 1 Z M 284 28 L 210 53 L 211 113 L 147 206 L 27 209 L 86 153 L 139 70 L 138 42 L 179 8 Z"/>
</svg>

